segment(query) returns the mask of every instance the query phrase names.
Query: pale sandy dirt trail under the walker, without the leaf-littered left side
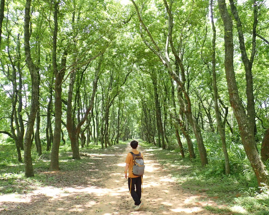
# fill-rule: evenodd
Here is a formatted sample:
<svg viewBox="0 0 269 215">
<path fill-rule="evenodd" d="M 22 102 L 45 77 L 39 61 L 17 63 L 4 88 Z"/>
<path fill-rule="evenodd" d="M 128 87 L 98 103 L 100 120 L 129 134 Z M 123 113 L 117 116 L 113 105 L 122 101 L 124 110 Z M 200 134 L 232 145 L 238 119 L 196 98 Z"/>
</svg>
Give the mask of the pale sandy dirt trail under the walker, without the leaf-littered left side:
<svg viewBox="0 0 269 215">
<path fill-rule="evenodd" d="M 156 149 L 143 150 L 137 148 L 143 153 L 145 160 L 145 173 L 143 175 L 143 193 L 141 201 L 144 206 L 139 211 L 134 211 L 132 205 L 134 201 L 129 194 L 128 183 L 124 178 L 125 158 L 129 151 L 132 151 L 129 143 L 125 153 L 118 154 L 117 167 L 111 173 L 111 180 L 106 183 L 105 193 L 96 193 L 99 195 L 99 203 L 93 205 L 89 211 L 85 211 L 87 215 L 191 215 L 203 214 L 210 215 L 212 213 L 205 211 L 202 206 L 210 204 L 209 202 L 202 204 L 196 202 L 195 199 L 200 196 L 182 193 L 182 189 L 176 185 L 175 181 L 167 176 L 165 171 L 161 170 L 161 165 L 151 159 L 151 151 Z M 157 149 L 159 150 L 159 149 Z M 106 195 L 107 194 L 107 195 Z M 102 204 L 101 204 L 102 202 Z"/>
</svg>

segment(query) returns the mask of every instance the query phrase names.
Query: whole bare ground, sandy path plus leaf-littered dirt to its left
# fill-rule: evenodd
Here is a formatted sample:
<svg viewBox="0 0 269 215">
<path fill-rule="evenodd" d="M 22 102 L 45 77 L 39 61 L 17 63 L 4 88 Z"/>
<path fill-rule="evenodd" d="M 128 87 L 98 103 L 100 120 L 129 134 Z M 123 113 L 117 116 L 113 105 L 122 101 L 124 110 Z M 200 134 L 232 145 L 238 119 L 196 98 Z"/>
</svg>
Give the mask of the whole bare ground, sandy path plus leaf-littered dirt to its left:
<svg viewBox="0 0 269 215">
<path fill-rule="evenodd" d="M 203 192 L 188 193 L 155 160 L 154 153 L 160 149 L 138 150 L 142 151 L 146 165 L 141 198 L 144 206 L 139 211 L 132 208 L 134 202 L 123 173 L 126 155 L 131 151 L 128 143 L 110 147 L 103 154 L 84 153 L 82 159 L 86 162 L 71 171 L 40 172 L 47 177 L 48 184 L 28 193 L 1 195 L 0 214 L 213 214 L 204 206 L 216 206 L 214 201 L 199 201 Z"/>
</svg>

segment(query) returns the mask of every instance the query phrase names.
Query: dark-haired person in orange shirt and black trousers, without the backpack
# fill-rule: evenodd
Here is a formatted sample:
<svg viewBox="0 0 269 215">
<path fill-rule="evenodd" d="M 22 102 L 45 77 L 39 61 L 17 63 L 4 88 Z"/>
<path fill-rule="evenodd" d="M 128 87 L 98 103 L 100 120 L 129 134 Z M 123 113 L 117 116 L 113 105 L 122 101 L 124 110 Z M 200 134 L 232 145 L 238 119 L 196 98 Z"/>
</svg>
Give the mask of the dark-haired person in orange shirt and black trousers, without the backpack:
<svg viewBox="0 0 269 215">
<path fill-rule="evenodd" d="M 141 185 L 142 185 L 142 178 L 143 175 L 141 176 L 136 176 L 133 174 L 132 172 L 132 168 L 134 165 L 134 156 L 141 156 L 143 159 L 143 155 L 141 152 L 137 151 L 137 146 L 138 146 L 138 142 L 136 140 L 133 140 L 130 142 L 130 146 L 132 147 L 132 152 L 129 152 L 127 154 L 127 157 L 125 159 L 125 170 L 124 170 L 124 176 L 127 179 L 127 170 L 129 170 L 128 172 L 128 188 L 129 191 L 131 193 L 132 198 L 135 201 L 135 210 L 139 210 L 144 203 L 141 202 Z"/>
</svg>

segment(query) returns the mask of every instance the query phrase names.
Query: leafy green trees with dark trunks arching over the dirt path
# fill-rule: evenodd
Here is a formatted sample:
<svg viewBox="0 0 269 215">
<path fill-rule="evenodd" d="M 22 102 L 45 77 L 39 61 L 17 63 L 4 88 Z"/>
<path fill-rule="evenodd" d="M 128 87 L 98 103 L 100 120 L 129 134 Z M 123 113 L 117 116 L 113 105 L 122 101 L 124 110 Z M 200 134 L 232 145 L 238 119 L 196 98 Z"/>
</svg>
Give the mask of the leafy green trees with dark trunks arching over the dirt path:
<svg viewBox="0 0 269 215">
<path fill-rule="evenodd" d="M 0 1 L 0 133 L 27 177 L 33 143 L 57 171 L 65 139 L 80 159 L 79 146 L 139 136 L 163 149 L 176 140 L 182 157 L 186 142 L 202 167 L 224 159 L 225 174 L 243 145 L 268 186 L 268 4 L 182 4 Z"/>
</svg>

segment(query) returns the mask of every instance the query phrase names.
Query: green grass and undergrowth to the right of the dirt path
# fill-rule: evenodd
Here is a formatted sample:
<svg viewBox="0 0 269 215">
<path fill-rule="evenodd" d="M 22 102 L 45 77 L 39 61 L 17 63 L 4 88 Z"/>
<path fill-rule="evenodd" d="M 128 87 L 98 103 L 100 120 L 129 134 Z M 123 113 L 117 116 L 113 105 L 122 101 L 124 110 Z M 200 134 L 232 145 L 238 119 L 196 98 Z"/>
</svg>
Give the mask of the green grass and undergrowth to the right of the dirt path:
<svg viewBox="0 0 269 215">
<path fill-rule="evenodd" d="M 200 196 L 199 202 L 213 201 L 217 206 L 204 207 L 214 214 L 269 215 L 269 191 L 258 193 L 257 181 L 246 162 L 240 168 L 232 165 L 232 173 L 225 175 L 221 165 L 209 160 L 201 168 L 200 161 L 190 161 L 188 153 L 181 157 L 179 150 L 162 150 L 147 142 L 141 142 L 143 150 L 157 160 L 162 169 L 177 181 L 185 193 Z"/>
</svg>

